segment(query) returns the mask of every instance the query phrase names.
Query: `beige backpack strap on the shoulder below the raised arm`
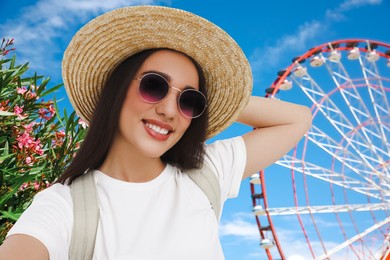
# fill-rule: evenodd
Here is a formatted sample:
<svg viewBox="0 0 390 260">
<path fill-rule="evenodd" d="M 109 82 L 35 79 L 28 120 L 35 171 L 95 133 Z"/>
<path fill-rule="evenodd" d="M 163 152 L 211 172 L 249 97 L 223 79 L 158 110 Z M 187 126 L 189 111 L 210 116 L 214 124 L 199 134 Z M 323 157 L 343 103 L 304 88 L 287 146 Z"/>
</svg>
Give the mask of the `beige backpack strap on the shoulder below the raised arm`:
<svg viewBox="0 0 390 260">
<path fill-rule="evenodd" d="M 214 172 L 206 164 L 203 164 L 201 169 L 189 171 L 187 174 L 207 196 L 213 207 L 217 221 L 219 221 L 219 215 L 221 213 L 221 188 L 219 187 L 217 176 L 215 176 Z"/>
</svg>

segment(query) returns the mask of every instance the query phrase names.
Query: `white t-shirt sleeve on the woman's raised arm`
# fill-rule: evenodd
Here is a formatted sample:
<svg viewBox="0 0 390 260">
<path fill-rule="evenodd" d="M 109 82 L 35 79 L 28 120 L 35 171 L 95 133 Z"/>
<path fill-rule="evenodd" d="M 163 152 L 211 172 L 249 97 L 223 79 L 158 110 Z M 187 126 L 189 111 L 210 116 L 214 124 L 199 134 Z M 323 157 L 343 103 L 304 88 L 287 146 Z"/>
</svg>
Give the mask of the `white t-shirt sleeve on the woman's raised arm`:
<svg viewBox="0 0 390 260">
<path fill-rule="evenodd" d="M 206 145 L 205 163 L 214 169 L 221 185 L 222 201 L 238 196 L 246 164 L 241 136 Z"/>
</svg>

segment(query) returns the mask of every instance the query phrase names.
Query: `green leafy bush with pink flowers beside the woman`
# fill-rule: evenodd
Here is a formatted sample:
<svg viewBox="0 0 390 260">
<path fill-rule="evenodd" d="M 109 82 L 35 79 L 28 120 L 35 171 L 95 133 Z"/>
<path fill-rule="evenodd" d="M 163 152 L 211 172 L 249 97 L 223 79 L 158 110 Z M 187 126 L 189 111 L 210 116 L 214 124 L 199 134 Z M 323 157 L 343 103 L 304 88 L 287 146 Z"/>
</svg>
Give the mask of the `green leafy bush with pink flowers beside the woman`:
<svg viewBox="0 0 390 260">
<path fill-rule="evenodd" d="M 62 84 L 24 77 L 28 63 L 5 57 L 12 44 L 0 45 L 0 244 L 33 196 L 69 165 L 86 133 L 75 112 L 59 113 L 54 93 Z"/>
</svg>

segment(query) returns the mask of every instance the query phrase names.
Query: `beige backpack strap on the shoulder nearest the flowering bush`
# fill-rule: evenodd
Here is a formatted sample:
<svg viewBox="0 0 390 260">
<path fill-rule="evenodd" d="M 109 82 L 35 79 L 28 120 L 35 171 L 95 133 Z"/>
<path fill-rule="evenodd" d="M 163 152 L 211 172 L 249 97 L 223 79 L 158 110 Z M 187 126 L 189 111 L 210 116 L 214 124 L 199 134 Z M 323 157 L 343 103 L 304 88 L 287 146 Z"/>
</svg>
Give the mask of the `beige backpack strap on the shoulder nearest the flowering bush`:
<svg viewBox="0 0 390 260">
<path fill-rule="evenodd" d="M 90 260 L 93 257 L 99 222 L 99 206 L 95 181 L 91 172 L 72 182 L 73 231 L 69 247 L 70 260 Z"/>
</svg>

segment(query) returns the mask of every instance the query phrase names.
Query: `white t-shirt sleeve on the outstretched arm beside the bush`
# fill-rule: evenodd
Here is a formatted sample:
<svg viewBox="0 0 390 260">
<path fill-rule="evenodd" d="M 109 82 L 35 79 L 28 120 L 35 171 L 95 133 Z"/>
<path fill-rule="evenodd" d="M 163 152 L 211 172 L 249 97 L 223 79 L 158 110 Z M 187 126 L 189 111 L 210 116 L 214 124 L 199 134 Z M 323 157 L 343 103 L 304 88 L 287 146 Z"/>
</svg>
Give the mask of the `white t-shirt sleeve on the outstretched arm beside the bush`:
<svg viewBox="0 0 390 260">
<path fill-rule="evenodd" d="M 72 198 L 68 186 L 55 184 L 35 195 L 7 237 L 32 236 L 49 251 L 50 259 L 68 259 L 73 225 Z"/>
</svg>

